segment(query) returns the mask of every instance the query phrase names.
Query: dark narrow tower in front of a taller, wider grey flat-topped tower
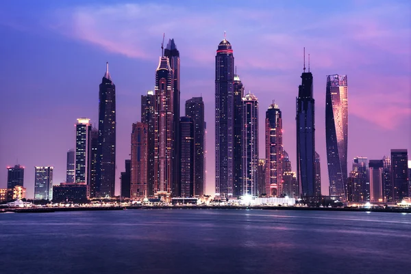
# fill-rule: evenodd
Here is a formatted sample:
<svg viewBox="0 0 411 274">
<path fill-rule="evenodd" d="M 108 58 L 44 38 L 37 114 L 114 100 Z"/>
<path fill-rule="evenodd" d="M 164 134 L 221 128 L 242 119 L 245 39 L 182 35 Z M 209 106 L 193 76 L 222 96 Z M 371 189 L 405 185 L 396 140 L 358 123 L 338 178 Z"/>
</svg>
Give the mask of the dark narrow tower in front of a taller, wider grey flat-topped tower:
<svg viewBox="0 0 411 274">
<path fill-rule="evenodd" d="M 180 154 L 180 197 L 193 197 L 195 184 L 195 133 L 194 122 L 190 116 L 180 118 L 181 154 Z"/>
</svg>

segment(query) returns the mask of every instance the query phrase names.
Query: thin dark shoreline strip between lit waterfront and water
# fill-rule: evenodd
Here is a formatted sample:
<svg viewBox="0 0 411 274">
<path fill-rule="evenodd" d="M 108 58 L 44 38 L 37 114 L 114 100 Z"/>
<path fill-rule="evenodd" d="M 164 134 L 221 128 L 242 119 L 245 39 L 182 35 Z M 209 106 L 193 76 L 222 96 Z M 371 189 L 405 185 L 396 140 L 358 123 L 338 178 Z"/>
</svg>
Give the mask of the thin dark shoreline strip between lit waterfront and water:
<svg viewBox="0 0 411 274">
<path fill-rule="evenodd" d="M 0 213 L 53 213 L 62 211 L 101 211 L 138 209 L 226 209 L 226 210 L 302 210 L 340 212 L 410 213 L 411 208 L 315 208 L 297 206 L 108 206 L 108 207 L 55 207 L 55 208 L 1 208 Z"/>
</svg>

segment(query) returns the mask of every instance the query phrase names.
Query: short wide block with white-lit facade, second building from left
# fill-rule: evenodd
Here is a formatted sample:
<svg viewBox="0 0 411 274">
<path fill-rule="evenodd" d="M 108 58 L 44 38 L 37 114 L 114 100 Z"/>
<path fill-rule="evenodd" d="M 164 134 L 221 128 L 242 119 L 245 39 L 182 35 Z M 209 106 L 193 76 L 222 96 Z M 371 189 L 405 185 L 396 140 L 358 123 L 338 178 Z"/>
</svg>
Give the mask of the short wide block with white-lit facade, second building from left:
<svg viewBox="0 0 411 274">
<path fill-rule="evenodd" d="M 34 167 L 34 199 L 53 200 L 53 167 Z"/>
</svg>

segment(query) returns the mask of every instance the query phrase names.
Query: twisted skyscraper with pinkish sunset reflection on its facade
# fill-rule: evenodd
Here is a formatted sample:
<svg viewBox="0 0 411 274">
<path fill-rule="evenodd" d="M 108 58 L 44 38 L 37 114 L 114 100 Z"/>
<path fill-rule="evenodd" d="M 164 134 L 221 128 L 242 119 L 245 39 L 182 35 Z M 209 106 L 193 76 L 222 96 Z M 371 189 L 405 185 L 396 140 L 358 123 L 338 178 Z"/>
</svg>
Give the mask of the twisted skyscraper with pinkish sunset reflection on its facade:
<svg viewBox="0 0 411 274">
<path fill-rule="evenodd" d="M 325 92 L 325 142 L 329 195 L 347 200 L 347 75 L 328 75 Z"/>
</svg>

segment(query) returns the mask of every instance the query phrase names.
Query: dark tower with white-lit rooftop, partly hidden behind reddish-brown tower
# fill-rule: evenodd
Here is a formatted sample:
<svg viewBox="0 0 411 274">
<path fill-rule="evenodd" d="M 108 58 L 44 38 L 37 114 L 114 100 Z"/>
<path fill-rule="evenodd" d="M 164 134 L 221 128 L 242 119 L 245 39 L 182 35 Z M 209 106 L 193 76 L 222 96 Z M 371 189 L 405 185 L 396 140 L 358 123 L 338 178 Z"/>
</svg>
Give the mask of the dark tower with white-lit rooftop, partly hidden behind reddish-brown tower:
<svg viewBox="0 0 411 274">
<path fill-rule="evenodd" d="M 147 196 L 154 195 L 154 92 L 141 96 L 141 122 L 147 124 Z"/>
</svg>

